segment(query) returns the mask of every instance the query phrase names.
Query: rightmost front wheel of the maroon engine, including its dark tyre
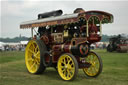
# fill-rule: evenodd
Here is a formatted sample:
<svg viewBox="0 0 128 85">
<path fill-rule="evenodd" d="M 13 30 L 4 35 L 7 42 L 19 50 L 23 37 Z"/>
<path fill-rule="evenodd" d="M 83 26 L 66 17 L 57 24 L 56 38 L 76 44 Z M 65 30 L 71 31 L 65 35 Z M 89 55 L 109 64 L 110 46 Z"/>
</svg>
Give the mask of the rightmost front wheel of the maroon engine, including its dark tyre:
<svg viewBox="0 0 128 85">
<path fill-rule="evenodd" d="M 88 62 L 90 67 L 84 68 L 83 71 L 88 77 L 97 77 L 102 72 L 102 60 L 95 52 L 90 52 L 85 61 Z"/>
</svg>

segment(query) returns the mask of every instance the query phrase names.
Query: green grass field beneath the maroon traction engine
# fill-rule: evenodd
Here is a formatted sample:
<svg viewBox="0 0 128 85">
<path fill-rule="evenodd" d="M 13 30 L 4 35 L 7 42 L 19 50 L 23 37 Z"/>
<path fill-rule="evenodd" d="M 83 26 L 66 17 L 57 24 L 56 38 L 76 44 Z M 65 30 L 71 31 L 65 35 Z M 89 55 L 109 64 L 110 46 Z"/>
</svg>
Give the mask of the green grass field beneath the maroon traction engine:
<svg viewBox="0 0 128 85">
<path fill-rule="evenodd" d="M 47 68 L 41 75 L 29 74 L 24 52 L 0 52 L 0 85 L 128 85 L 128 53 L 95 52 L 103 60 L 101 75 L 89 79 L 79 70 L 74 81 L 63 81 L 54 68 Z"/>
</svg>

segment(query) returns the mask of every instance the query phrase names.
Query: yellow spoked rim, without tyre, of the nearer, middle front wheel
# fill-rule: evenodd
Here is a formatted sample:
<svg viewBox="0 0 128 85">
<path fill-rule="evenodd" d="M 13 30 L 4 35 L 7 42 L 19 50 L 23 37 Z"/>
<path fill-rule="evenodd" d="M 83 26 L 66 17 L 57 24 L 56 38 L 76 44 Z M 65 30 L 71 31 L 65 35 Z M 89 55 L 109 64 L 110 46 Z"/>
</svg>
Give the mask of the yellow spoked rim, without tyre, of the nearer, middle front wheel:
<svg viewBox="0 0 128 85">
<path fill-rule="evenodd" d="M 75 73 L 75 64 L 69 55 L 62 55 L 58 60 L 58 72 L 62 79 L 71 80 Z"/>
</svg>

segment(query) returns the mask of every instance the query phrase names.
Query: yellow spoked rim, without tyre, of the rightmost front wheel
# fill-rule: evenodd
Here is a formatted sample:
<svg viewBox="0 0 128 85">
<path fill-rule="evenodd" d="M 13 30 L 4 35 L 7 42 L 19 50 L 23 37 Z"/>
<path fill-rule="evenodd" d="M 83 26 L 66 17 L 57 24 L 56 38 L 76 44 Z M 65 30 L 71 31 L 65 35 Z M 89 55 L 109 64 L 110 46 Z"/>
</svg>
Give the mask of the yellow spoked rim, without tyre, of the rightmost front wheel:
<svg viewBox="0 0 128 85">
<path fill-rule="evenodd" d="M 87 76 L 96 76 L 100 70 L 100 61 L 97 55 L 93 52 L 90 52 L 85 60 L 91 64 L 91 66 L 89 68 L 84 68 L 84 72 L 87 74 Z"/>
</svg>

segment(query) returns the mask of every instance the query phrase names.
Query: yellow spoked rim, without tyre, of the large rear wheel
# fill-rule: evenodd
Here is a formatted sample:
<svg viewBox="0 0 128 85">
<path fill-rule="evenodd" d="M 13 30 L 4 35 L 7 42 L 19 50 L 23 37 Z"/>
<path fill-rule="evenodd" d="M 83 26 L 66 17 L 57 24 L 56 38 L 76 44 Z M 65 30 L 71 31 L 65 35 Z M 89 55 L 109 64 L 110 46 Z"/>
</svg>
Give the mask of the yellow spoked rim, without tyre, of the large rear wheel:
<svg viewBox="0 0 128 85">
<path fill-rule="evenodd" d="M 25 63 L 30 73 L 36 73 L 40 66 L 40 50 L 36 41 L 31 40 L 25 51 Z"/>
</svg>

